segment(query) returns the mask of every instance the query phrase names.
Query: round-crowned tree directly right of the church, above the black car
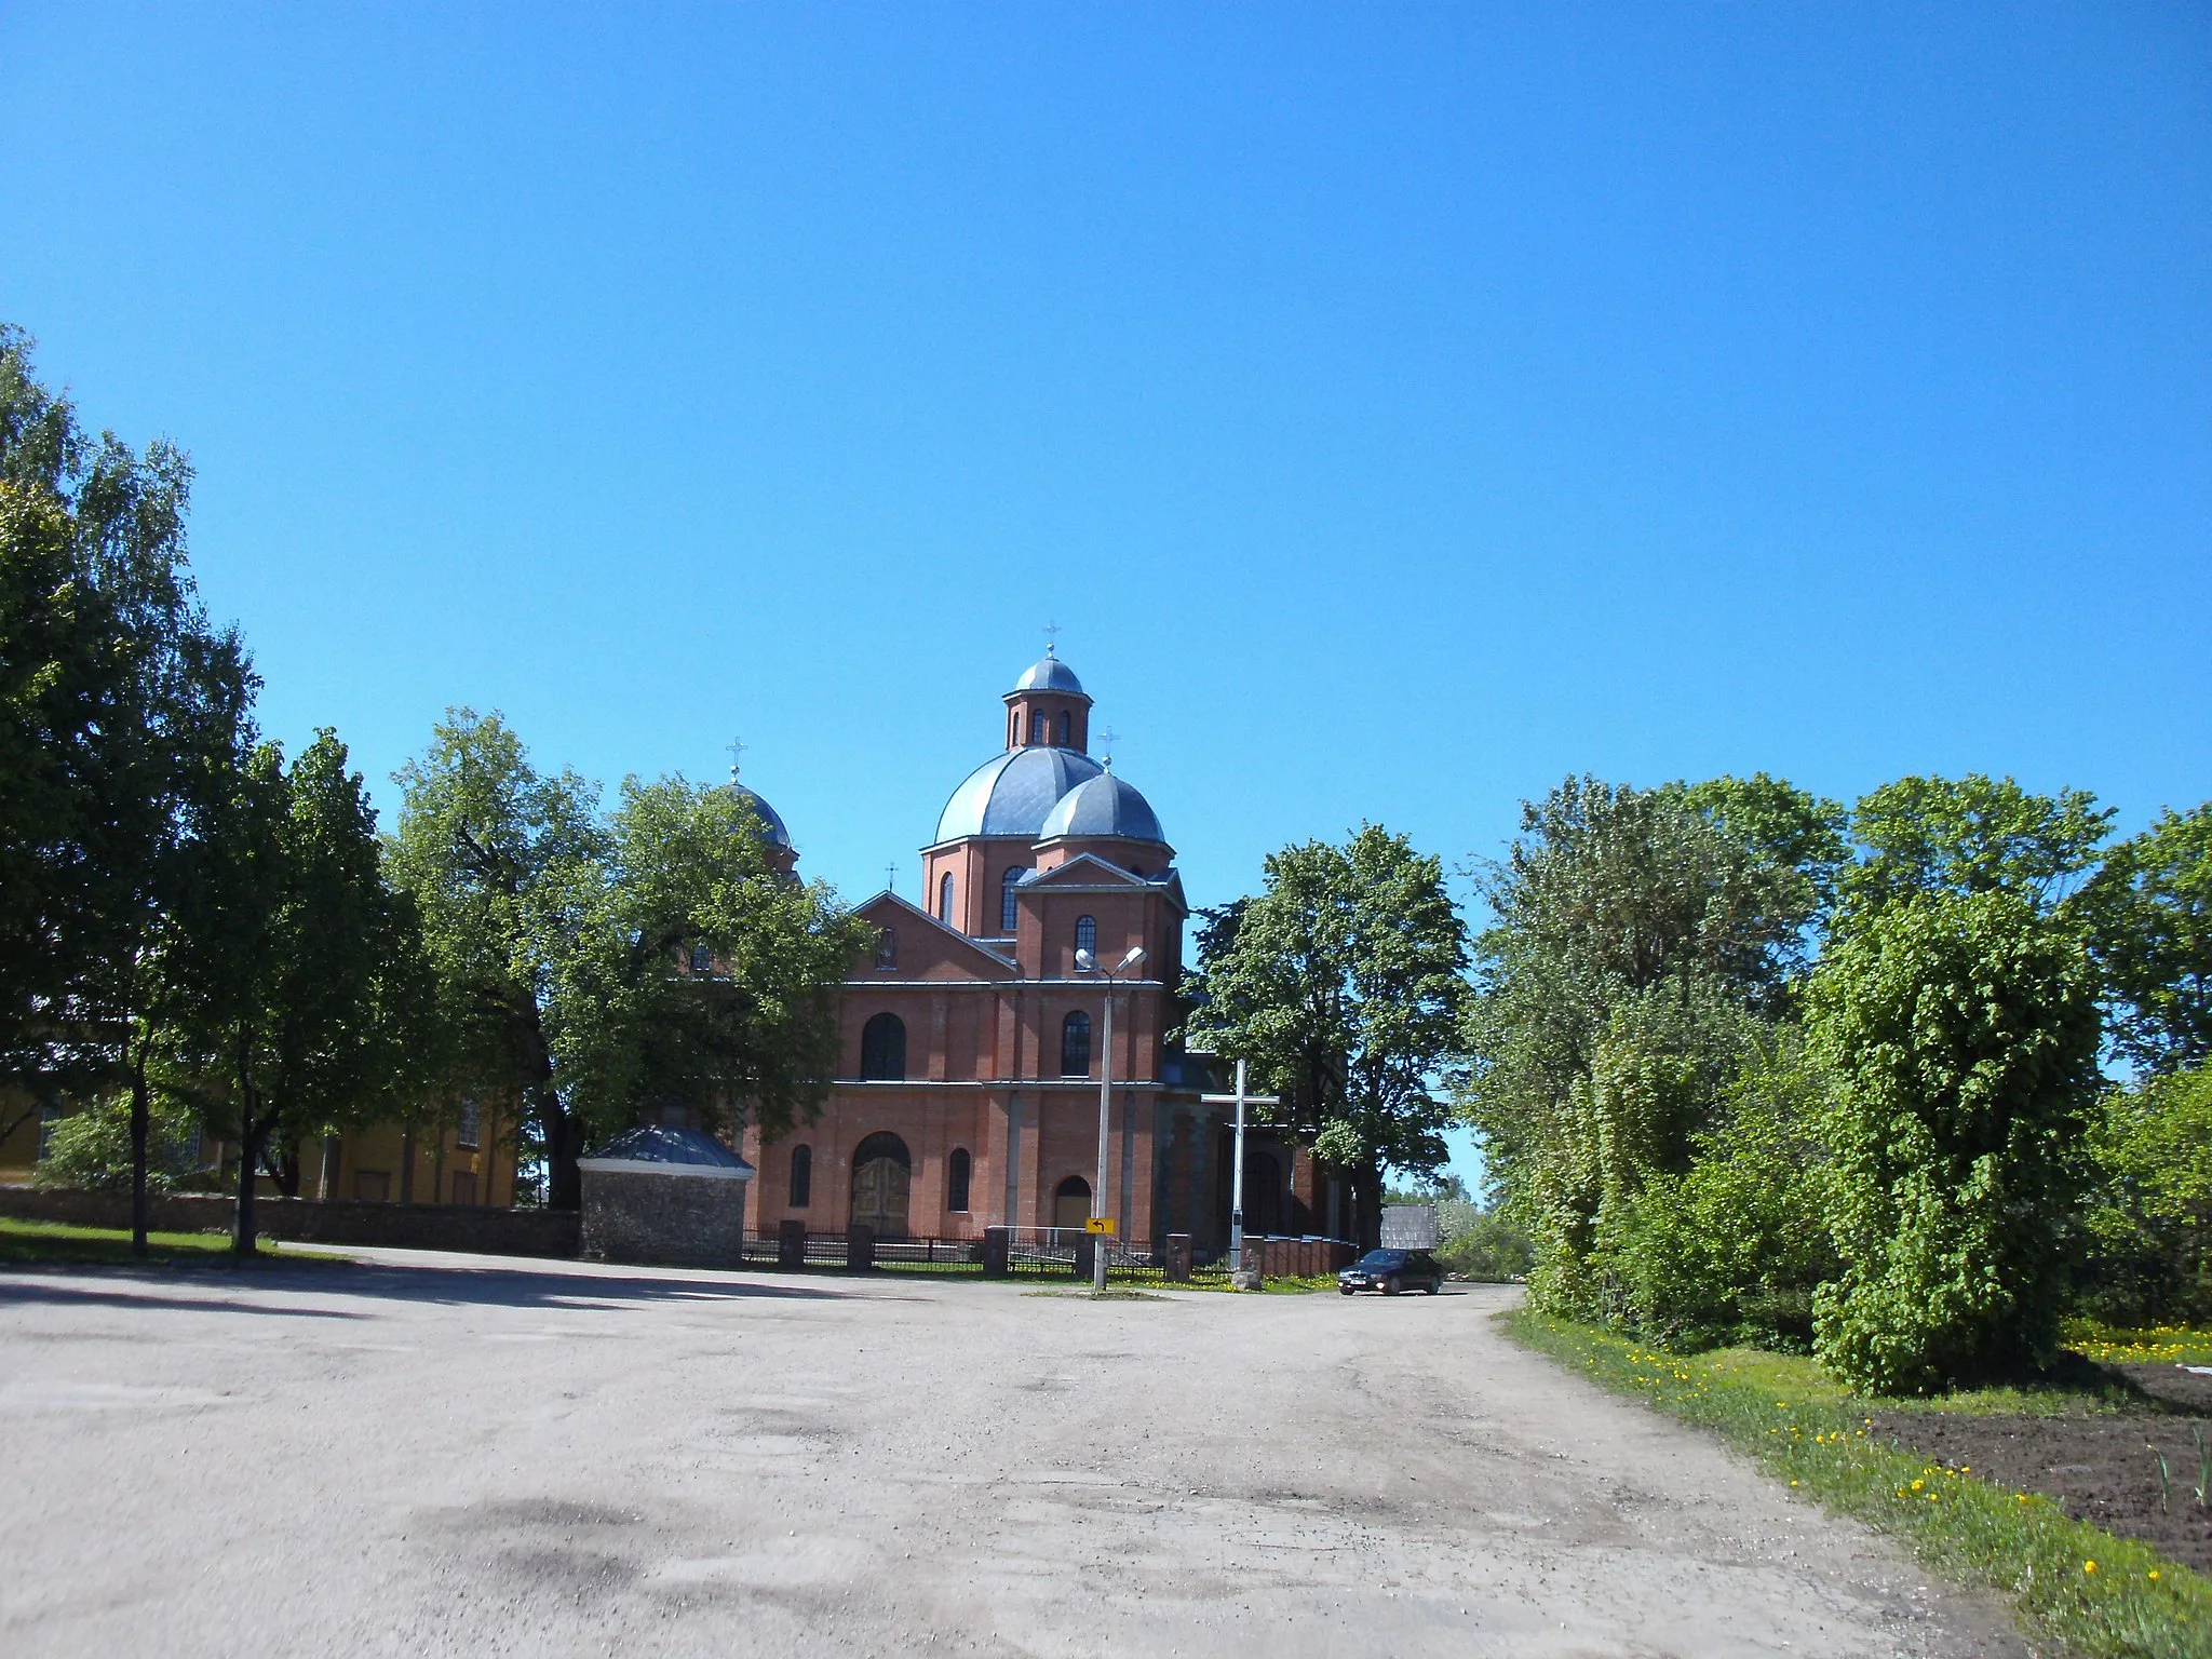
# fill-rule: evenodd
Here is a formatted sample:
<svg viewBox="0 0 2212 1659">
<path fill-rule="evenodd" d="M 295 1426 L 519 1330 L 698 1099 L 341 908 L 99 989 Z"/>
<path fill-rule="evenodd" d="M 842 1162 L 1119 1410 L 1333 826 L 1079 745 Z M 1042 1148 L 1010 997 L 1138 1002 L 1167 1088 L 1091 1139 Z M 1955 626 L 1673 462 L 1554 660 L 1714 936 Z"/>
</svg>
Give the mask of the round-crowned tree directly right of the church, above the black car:
<svg viewBox="0 0 2212 1659">
<path fill-rule="evenodd" d="M 1252 1062 L 1285 1097 L 1349 1175 L 1374 1245 L 1383 1170 L 1427 1177 L 1447 1159 L 1436 1079 L 1455 1046 L 1467 931 L 1440 860 L 1378 825 L 1340 847 L 1285 847 L 1265 878 L 1232 927 L 1201 936 L 1186 1035 Z"/>
</svg>

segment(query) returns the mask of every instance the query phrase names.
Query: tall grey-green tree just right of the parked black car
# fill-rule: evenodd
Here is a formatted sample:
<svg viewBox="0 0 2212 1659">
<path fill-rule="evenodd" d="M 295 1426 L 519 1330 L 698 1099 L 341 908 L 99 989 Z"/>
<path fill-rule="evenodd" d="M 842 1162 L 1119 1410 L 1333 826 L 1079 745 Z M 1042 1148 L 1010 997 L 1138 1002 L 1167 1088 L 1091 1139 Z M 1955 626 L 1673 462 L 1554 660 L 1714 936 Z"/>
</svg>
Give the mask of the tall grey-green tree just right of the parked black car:
<svg viewBox="0 0 2212 1659">
<path fill-rule="evenodd" d="M 1484 869 L 1462 1108 L 1535 1241 L 1531 1296 L 1604 1314 L 1608 1208 L 1688 1168 L 1818 911 L 1834 812 L 1772 779 L 1566 779 Z M 1820 825 L 1827 823 L 1825 832 Z"/>
</svg>

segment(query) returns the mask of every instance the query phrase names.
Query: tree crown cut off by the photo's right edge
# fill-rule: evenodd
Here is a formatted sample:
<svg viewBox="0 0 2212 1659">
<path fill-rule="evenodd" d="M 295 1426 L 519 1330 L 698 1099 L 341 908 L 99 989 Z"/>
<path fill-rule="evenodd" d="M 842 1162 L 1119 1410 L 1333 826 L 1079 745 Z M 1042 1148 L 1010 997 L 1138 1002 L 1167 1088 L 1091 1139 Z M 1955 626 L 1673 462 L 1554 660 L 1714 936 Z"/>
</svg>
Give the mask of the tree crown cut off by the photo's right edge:
<svg viewBox="0 0 2212 1659">
<path fill-rule="evenodd" d="M 2212 801 L 2163 812 L 2106 856 L 2093 945 L 2112 995 L 2112 1042 L 2154 1073 L 2212 1060 Z"/>
</svg>

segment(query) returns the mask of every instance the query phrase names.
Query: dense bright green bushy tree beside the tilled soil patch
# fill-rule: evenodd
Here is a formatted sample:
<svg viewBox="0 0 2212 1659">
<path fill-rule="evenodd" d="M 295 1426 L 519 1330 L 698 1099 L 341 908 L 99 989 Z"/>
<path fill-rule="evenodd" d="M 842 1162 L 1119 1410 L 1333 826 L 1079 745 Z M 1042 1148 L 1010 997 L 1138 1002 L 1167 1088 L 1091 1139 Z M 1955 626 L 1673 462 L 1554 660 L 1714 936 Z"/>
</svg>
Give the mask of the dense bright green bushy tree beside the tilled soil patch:
<svg viewBox="0 0 2212 1659">
<path fill-rule="evenodd" d="M 1893 898 L 1829 947 L 1807 989 L 1836 1079 L 1823 1365 L 1927 1394 L 2051 1349 L 2097 1033 L 2077 931 L 2011 883 Z"/>
</svg>

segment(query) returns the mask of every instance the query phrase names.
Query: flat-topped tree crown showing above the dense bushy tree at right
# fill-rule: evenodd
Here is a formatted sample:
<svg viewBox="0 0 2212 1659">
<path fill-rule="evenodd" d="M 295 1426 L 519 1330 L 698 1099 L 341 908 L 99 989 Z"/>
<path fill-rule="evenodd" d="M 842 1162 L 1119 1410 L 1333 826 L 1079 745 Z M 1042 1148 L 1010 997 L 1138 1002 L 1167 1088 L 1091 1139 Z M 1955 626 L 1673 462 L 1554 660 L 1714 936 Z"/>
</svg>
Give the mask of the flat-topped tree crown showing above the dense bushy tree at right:
<svg viewBox="0 0 2212 1659">
<path fill-rule="evenodd" d="M 1885 783 L 1851 810 L 1865 854 L 1843 872 L 1845 916 L 1924 894 L 2013 894 L 2059 914 L 2095 874 L 2110 825 L 2112 807 L 2086 790 L 2033 794 L 1980 772 Z"/>
</svg>

